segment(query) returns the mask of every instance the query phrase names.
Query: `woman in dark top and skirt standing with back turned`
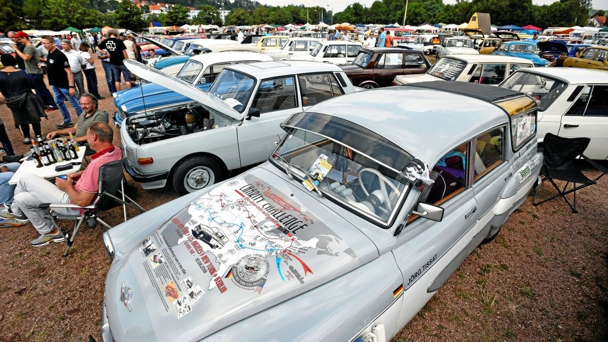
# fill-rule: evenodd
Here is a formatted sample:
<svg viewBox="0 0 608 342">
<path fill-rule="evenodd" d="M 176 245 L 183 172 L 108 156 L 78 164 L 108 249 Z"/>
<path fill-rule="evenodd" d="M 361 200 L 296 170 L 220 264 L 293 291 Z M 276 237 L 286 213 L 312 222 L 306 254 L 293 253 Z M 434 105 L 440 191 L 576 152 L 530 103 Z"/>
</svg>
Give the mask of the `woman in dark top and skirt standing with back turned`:
<svg viewBox="0 0 608 342">
<path fill-rule="evenodd" d="M 23 143 L 30 144 L 30 125 L 36 136 L 42 135 L 40 117 L 47 117 L 44 113 L 44 103 L 40 96 L 32 92 L 34 85 L 26 72 L 15 68 L 15 57 L 4 54 L 0 56 L 0 61 L 5 65 L 5 68 L 0 70 L 0 92 L 13 112 L 15 128 L 21 127 Z M 2 143 L 4 144 L 4 141 Z"/>
</svg>

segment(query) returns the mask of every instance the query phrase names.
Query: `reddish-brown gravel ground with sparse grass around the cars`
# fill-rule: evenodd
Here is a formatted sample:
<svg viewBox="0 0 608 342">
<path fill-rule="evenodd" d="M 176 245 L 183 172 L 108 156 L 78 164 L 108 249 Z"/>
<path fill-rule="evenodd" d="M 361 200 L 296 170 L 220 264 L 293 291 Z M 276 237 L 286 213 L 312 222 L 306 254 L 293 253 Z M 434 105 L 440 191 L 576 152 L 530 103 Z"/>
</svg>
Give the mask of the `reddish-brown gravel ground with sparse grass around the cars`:
<svg viewBox="0 0 608 342">
<path fill-rule="evenodd" d="M 97 63 L 98 64 L 98 63 Z M 100 108 L 115 108 L 97 65 Z M 73 110 L 71 111 L 73 113 Z M 61 121 L 59 111 L 43 120 L 43 132 Z M 4 120 L 17 152 L 25 152 L 0 97 Z M 75 117 L 74 117 L 75 119 Z M 115 144 L 120 134 L 115 130 Z M 139 190 L 150 209 L 177 195 Z M 548 194 L 543 184 L 542 194 Z M 608 177 L 579 192 L 579 214 L 561 200 L 539 207 L 531 198 L 511 215 L 494 242 L 480 246 L 395 341 L 601 341 L 608 340 Z M 120 223 L 114 208 L 103 215 Z M 134 215 L 131 212 L 131 215 Z M 64 244 L 32 248 L 31 225 L 0 228 L 0 341 L 86 341 L 97 337 L 103 282 L 109 268 L 103 229 L 79 232 L 68 257 Z"/>
</svg>

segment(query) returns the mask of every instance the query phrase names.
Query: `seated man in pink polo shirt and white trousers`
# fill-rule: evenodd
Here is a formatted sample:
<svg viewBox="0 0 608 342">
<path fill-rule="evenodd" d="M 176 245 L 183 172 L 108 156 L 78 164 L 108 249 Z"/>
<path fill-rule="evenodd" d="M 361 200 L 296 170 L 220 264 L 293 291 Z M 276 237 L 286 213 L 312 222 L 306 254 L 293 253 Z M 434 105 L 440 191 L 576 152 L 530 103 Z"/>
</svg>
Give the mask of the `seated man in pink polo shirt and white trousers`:
<svg viewBox="0 0 608 342">
<path fill-rule="evenodd" d="M 86 131 L 86 141 L 96 153 L 84 171 L 67 175 L 67 180 L 55 178 L 55 185 L 36 175 L 23 175 L 15 189 L 13 203 L 0 212 L 0 218 L 14 218 L 25 225 L 31 222 L 41 234 L 31 244 L 34 247 L 48 245 L 50 242 L 63 242 L 63 236 L 50 225 L 44 217 L 46 209 L 39 208 L 41 203 L 74 203 L 88 206 L 95 199 L 98 190 L 99 168 L 106 162 L 122 158 L 120 148 L 112 145 L 114 131 L 105 122 L 92 122 Z M 76 181 L 75 184 L 74 181 Z M 78 215 L 78 209 L 54 209 L 60 215 Z"/>
</svg>

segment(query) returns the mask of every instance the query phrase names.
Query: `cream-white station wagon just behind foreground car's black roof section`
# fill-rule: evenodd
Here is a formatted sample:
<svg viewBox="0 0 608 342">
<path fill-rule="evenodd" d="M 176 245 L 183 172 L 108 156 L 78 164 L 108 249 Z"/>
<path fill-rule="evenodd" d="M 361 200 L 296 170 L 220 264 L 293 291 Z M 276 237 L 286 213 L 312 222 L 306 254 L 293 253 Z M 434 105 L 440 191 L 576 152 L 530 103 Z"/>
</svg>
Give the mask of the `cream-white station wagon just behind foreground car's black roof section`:
<svg viewBox="0 0 608 342">
<path fill-rule="evenodd" d="M 437 60 L 426 74 L 396 76 L 393 85 L 441 80 L 499 85 L 517 69 L 533 67 L 530 60 L 517 57 L 451 55 Z"/>
</svg>

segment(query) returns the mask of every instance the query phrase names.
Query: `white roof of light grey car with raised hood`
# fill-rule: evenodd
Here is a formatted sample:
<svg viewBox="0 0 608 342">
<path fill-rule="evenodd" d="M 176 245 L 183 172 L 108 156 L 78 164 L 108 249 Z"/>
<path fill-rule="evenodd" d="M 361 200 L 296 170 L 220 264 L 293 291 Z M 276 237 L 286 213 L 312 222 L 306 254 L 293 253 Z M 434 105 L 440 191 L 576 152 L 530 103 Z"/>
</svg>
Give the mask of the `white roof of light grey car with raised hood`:
<svg viewBox="0 0 608 342">
<path fill-rule="evenodd" d="M 342 69 L 331 63 L 317 61 L 260 61 L 248 64 L 227 66 L 226 69 L 243 72 L 258 79 L 281 75 L 306 74 L 308 72 L 340 72 Z"/>
</svg>

